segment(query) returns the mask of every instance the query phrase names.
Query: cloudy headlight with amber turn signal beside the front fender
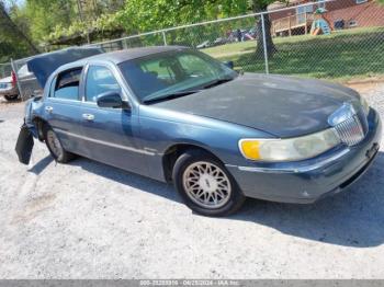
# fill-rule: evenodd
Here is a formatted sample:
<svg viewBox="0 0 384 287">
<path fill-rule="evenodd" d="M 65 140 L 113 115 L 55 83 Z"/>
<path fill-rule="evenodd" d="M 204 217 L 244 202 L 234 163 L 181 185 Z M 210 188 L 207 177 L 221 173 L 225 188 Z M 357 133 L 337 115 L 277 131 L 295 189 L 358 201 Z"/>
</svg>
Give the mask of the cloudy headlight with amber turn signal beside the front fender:
<svg viewBox="0 0 384 287">
<path fill-rule="evenodd" d="M 334 128 L 289 139 L 241 139 L 239 149 L 249 160 L 266 162 L 300 161 L 314 158 L 340 144 Z"/>
</svg>

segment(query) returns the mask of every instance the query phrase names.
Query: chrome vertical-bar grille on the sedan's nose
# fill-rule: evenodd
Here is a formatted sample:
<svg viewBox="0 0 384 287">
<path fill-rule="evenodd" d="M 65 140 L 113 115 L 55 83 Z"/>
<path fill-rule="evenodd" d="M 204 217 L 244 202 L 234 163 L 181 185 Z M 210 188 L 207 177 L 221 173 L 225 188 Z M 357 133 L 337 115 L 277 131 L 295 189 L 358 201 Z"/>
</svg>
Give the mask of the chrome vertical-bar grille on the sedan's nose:
<svg viewBox="0 0 384 287">
<path fill-rule="evenodd" d="M 348 146 L 355 146 L 364 139 L 364 129 L 358 115 L 335 126 L 342 142 Z"/>
</svg>

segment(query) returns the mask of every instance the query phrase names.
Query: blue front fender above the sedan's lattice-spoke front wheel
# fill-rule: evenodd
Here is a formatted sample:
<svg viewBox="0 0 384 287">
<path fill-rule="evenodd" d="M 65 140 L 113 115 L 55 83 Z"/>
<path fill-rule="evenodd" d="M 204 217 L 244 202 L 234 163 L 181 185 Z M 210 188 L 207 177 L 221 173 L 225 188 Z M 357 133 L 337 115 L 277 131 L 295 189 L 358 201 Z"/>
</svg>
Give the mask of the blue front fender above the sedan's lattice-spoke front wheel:
<svg viewBox="0 0 384 287">
<path fill-rule="evenodd" d="M 178 145 L 207 150 L 224 164 L 244 164 L 238 149 L 241 138 L 271 138 L 270 134 L 224 120 L 145 106 L 139 114 L 137 145 L 153 152 L 148 157 L 148 175 L 165 180 L 163 156 Z"/>
</svg>

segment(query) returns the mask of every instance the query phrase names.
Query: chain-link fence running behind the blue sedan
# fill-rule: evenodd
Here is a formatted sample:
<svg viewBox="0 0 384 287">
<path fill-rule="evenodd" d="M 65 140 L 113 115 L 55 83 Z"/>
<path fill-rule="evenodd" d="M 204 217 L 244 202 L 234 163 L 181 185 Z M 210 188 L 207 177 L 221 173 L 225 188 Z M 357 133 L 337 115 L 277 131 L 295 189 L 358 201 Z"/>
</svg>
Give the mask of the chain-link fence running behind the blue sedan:
<svg viewBox="0 0 384 287">
<path fill-rule="evenodd" d="M 347 81 L 384 76 L 384 7 L 325 0 L 95 43 L 105 51 L 181 45 L 246 72 Z M 15 70 L 29 59 L 13 61 Z M 18 73 L 19 78 L 20 72 Z M 383 77 L 384 79 L 384 77 Z M 35 90 L 20 79 L 23 97 Z"/>
</svg>

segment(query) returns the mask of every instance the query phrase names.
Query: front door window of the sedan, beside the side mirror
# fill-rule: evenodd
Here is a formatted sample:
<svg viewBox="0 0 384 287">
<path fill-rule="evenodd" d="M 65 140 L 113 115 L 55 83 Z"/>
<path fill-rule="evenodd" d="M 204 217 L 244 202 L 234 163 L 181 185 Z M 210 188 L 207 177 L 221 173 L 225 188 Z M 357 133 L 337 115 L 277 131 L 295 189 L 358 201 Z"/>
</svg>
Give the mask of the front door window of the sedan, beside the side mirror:
<svg viewBox="0 0 384 287">
<path fill-rule="evenodd" d="M 86 101 L 95 102 L 98 95 L 110 91 L 121 91 L 112 71 L 106 67 L 90 66 L 87 73 Z"/>
</svg>

